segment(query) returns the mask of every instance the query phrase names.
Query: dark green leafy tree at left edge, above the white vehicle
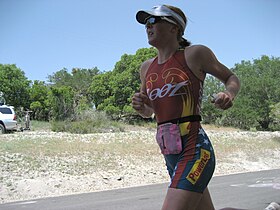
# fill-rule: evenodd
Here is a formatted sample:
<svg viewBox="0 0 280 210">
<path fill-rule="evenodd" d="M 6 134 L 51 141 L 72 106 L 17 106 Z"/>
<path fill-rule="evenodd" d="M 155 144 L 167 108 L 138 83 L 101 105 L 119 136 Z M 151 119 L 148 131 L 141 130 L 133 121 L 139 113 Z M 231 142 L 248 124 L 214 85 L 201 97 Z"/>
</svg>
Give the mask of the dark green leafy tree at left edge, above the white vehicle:
<svg viewBox="0 0 280 210">
<path fill-rule="evenodd" d="M 15 108 L 29 107 L 30 81 L 16 65 L 0 64 L 0 91 L 6 103 Z"/>
</svg>

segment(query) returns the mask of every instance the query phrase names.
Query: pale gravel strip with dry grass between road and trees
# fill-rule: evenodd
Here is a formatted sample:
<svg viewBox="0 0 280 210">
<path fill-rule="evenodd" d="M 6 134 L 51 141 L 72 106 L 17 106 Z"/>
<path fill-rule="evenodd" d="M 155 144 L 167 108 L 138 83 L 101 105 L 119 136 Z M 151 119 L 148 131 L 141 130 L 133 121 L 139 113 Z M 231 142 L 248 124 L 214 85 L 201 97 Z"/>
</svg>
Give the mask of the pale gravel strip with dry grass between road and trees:
<svg viewBox="0 0 280 210">
<path fill-rule="evenodd" d="M 206 132 L 215 176 L 280 168 L 280 132 Z M 0 203 L 168 182 L 154 135 L 149 129 L 1 135 Z"/>
</svg>

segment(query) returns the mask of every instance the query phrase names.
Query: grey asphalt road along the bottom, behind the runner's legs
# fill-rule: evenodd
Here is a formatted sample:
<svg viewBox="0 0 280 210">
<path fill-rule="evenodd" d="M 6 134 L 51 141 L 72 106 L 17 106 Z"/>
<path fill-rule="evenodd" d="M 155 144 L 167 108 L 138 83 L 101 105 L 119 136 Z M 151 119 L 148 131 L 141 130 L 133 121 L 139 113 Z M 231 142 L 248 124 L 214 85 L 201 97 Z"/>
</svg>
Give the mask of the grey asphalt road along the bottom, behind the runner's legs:
<svg viewBox="0 0 280 210">
<path fill-rule="evenodd" d="M 6 203 L 1 210 L 159 210 L 167 183 L 30 201 Z M 218 176 L 209 190 L 216 209 L 262 210 L 280 203 L 280 169 Z"/>
</svg>

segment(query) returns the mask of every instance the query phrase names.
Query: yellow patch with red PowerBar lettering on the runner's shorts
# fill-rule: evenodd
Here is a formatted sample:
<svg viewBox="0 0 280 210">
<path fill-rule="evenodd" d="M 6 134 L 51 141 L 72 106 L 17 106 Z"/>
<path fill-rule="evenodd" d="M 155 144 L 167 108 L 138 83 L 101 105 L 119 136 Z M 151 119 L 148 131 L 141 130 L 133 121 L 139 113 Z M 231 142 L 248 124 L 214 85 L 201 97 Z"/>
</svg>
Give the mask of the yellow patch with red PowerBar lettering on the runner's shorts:
<svg viewBox="0 0 280 210">
<path fill-rule="evenodd" d="M 210 159 L 210 152 L 201 149 L 200 151 L 200 158 L 195 161 L 190 173 L 186 177 L 192 184 L 195 184 L 199 179 L 200 175 L 202 174 L 207 162 Z"/>
</svg>

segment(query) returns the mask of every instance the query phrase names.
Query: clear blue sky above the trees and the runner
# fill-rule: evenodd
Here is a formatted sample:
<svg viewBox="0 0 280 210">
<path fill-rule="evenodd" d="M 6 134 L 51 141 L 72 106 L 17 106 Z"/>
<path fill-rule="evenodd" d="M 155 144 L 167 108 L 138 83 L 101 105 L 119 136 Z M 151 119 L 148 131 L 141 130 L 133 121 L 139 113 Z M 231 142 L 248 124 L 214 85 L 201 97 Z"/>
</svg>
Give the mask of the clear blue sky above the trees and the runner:
<svg viewBox="0 0 280 210">
<path fill-rule="evenodd" d="M 113 70 L 123 54 L 149 47 L 135 14 L 159 4 L 180 7 L 189 18 L 185 38 L 229 68 L 280 57 L 279 0 L 0 0 L 0 63 L 30 80 L 62 68 Z"/>
</svg>

